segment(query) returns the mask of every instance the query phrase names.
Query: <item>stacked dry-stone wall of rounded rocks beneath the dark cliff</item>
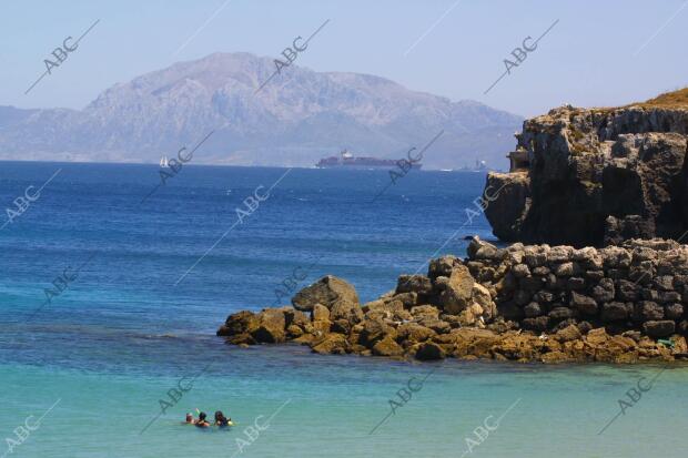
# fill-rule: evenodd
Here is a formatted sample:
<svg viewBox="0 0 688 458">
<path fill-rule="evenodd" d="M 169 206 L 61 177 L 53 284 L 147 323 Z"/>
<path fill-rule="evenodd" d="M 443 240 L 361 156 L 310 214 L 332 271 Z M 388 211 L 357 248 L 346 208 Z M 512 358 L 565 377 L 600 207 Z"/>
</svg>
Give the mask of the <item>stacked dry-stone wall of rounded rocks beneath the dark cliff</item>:
<svg viewBox="0 0 688 458">
<path fill-rule="evenodd" d="M 498 316 L 523 329 L 576 324 L 651 337 L 688 330 L 688 247 L 674 241 L 600 250 L 520 243 L 498 250 L 474 241 L 465 265 L 490 291 Z"/>
</svg>

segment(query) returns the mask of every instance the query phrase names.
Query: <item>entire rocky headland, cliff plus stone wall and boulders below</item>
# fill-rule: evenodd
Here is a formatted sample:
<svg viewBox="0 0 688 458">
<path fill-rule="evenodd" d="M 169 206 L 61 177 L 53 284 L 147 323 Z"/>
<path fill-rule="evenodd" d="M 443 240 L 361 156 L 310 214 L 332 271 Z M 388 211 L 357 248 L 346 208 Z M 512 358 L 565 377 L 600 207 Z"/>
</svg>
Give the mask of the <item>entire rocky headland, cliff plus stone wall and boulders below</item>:
<svg viewBox="0 0 688 458">
<path fill-rule="evenodd" d="M 365 304 L 325 276 L 291 306 L 230 315 L 217 335 L 421 360 L 688 358 L 686 102 L 688 90 L 528 120 L 484 201 L 495 235 L 516 243 L 474 237 L 465 258 L 432 259 Z"/>
</svg>

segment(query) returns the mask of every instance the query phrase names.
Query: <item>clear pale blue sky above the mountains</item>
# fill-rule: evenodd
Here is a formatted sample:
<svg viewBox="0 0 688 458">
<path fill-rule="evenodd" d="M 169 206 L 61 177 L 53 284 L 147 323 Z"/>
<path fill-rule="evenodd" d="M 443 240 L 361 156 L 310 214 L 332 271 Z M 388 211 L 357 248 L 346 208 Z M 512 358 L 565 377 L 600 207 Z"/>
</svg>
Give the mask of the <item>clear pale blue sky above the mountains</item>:
<svg viewBox="0 0 688 458">
<path fill-rule="evenodd" d="M 3 0 L 0 105 L 82 109 L 113 84 L 213 52 L 276 59 L 326 20 L 297 64 L 375 74 L 524 116 L 565 103 L 620 105 L 688 84 L 687 7 L 688 0 Z M 54 61 L 51 52 L 65 38 L 73 43 L 94 23 L 24 93 L 45 71 L 44 59 Z M 516 51 L 518 61 L 512 52 L 524 40 L 533 51 Z"/>
</svg>

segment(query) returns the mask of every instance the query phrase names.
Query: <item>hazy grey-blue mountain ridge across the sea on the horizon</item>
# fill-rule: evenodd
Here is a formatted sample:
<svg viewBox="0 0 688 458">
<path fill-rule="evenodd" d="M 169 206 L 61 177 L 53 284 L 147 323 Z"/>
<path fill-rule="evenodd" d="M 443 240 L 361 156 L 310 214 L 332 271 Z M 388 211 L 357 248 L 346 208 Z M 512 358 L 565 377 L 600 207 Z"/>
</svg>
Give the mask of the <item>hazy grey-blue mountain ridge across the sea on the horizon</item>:
<svg viewBox="0 0 688 458">
<path fill-rule="evenodd" d="M 476 159 L 505 167 L 523 118 L 415 92 L 384 78 L 315 72 L 273 59 L 214 53 L 103 91 L 83 110 L 0 106 L 0 159 L 156 163 L 214 134 L 195 163 L 312 166 L 348 149 L 402 157 L 441 130 L 424 169 Z"/>
</svg>

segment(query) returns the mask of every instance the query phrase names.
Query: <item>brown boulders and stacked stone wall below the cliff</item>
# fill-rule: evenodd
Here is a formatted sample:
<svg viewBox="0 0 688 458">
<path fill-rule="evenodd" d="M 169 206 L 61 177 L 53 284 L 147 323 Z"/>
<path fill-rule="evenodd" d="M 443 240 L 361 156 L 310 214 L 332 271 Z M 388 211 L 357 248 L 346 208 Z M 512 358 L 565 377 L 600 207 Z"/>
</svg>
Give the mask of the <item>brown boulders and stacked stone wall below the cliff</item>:
<svg viewBox="0 0 688 458">
<path fill-rule="evenodd" d="M 292 306 L 230 315 L 217 335 L 399 359 L 669 362 L 688 358 L 687 302 L 688 246 L 672 241 L 497 248 L 475 237 L 466 259 L 433 259 L 376 301 L 361 305 L 325 276 Z"/>
</svg>

